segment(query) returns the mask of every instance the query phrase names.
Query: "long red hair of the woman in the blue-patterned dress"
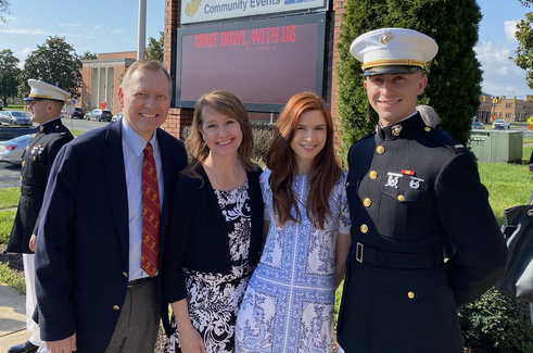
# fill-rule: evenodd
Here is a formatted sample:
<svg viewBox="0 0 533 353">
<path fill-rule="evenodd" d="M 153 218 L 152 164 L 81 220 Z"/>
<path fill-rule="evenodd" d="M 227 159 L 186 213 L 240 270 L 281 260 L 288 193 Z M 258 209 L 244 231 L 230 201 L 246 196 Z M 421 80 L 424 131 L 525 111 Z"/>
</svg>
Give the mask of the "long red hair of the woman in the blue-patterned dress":
<svg viewBox="0 0 533 353">
<path fill-rule="evenodd" d="M 265 161 L 271 171 L 268 184 L 272 191 L 272 209 L 279 226 L 289 220 L 301 222 L 299 203 L 291 186 L 299 172 L 291 141 L 297 128 L 300 117 L 307 111 L 320 111 L 326 118 L 327 140 L 322 150 L 313 160 L 307 172 L 308 196 L 305 204 L 307 218 L 317 228 L 323 229 L 323 223 L 331 210 L 329 196 L 341 176 L 341 167 L 335 160 L 333 148 L 333 123 L 331 112 L 325 100 L 312 92 L 293 96 L 281 111 L 276 124 L 272 143 Z M 296 217 L 291 213 L 295 210 Z"/>
</svg>

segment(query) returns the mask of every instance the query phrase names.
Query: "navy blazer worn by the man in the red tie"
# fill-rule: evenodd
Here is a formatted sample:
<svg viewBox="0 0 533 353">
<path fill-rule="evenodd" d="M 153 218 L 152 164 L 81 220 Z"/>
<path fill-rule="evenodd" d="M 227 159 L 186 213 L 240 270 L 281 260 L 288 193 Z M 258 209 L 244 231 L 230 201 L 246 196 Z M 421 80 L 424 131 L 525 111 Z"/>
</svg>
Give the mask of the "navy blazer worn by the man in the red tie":
<svg viewBox="0 0 533 353">
<path fill-rule="evenodd" d="M 156 137 L 164 174 L 163 243 L 170 196 L 187 153 L 182 142 L 162 129 Z M 37 239 L 42 340 L 76 333 L 78 353 L 104 352 L 128 287 L 128 196 L 120 121 L 85 133 L 60 151 Z M 168 317 L 166 307 L 164 312 Z"/>
</svg>

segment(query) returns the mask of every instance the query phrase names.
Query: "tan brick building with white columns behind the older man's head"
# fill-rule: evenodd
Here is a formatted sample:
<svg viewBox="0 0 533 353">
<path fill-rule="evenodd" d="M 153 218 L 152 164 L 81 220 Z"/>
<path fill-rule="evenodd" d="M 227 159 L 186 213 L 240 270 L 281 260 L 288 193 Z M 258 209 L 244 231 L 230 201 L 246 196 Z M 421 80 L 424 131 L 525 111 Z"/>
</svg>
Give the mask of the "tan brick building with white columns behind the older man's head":
<svg viewBox="0 0 533 353">
<path fill-rule="evenodd" d="M 116 101 L 120 77 L 137 60 L 137 51 L 98 54 L 97 60 L 84 60 L 79 105 L 84 111 L 105 106 L 113 114 L 120 112 Z"/>
</svg>

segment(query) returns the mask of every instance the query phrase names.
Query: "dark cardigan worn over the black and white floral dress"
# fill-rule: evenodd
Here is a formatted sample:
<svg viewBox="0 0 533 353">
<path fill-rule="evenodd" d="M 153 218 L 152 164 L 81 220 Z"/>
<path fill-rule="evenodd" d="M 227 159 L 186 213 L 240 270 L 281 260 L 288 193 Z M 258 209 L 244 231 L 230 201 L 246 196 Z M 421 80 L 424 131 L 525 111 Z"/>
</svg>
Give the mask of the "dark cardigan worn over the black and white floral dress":
<svg viewBox="0 0 533 353">
<path fill-rule="evenodd" d="M 228 228 L 215 192 L 203 167 L 198 169 L 204 185 L 198 178 L 185 175 L 178 182 L 170 206 L 172 217 L 166 228 L 162 276 L 166 302 L 187 298 L 183 267 L 206 273 L 229 274 Z M 249 263 L 255 267 L 259 261 L 263 239 L 263 197 L 261 168 L 248 172 L 250 205 L 252 207 L 252 234 Z M 167 331 L 168 332 L 168 331 Z"/>
</svg>

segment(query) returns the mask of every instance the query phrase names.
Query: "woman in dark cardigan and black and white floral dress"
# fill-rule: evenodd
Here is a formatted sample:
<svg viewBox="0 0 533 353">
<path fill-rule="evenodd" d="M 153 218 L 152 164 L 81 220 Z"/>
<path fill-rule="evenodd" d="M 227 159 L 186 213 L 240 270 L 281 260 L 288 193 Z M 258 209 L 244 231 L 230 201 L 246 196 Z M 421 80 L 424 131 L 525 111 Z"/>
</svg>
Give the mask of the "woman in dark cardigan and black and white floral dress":
<svg viewBox="0 0 533 353">
<path fill-rule="evenodd" d="M 173 196 L 163 289 L 174 315 L 165 352 L 233 352 L 239 305 L 259 259 L 261 168 L 242 102 L 217 90 L 196 103 L 192 162 Z"/>
</svg>

